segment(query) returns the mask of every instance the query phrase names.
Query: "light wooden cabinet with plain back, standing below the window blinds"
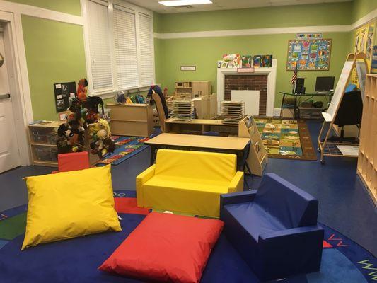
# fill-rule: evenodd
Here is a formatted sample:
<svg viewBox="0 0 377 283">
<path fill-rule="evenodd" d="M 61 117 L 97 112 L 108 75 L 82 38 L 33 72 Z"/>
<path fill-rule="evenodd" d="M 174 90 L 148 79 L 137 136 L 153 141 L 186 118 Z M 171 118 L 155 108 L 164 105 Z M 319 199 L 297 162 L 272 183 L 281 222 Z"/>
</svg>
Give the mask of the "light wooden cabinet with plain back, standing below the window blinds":
<svg viewBox="0 0 377 283">
<path fill-rule="evenodd" d="M 108 103 L 112 134 L 149 137 L 153 133 L 153 108 L 149 104 Z"/>
</svg>

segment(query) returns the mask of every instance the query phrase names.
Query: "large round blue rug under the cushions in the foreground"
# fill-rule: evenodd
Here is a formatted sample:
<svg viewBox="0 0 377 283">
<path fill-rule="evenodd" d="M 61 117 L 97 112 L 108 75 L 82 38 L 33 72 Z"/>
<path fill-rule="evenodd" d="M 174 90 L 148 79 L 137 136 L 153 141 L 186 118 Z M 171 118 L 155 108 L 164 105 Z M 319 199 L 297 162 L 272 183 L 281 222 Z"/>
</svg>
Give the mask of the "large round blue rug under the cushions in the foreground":
<svg viewBox="0 0 377 283">
<path fill-rule="evenodd" d="M 0 213 L 0 282 L 144 282 L 98 270 L 117 246 L 144 219 L 149 209 L 136 206 L 134 191 L 116 191 L 115 207 L 121 232 L 99 233 L 21 251 L 27 206 Z M 325 229 L 321 271 L 286 278 L 286 283 L 366 283 L 377 281 L 377 258 L 341 233 Z M 259 283 L 224 233 L 203 272 L 202 283 Z"/>
</svg>

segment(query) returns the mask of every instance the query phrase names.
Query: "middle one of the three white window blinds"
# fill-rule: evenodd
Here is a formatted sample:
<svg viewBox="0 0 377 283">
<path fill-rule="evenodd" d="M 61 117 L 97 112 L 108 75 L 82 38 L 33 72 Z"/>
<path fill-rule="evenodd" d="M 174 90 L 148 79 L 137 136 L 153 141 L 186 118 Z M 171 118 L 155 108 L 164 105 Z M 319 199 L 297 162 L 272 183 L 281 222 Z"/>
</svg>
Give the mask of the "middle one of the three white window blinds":
<svg viewBox="0 0 377 283">
<path fill-rule="evenodd" d="M 117 88 L 139 86 L 136 15 L 117 5 L 114 5 L 114 45 Z"/>
</svg>

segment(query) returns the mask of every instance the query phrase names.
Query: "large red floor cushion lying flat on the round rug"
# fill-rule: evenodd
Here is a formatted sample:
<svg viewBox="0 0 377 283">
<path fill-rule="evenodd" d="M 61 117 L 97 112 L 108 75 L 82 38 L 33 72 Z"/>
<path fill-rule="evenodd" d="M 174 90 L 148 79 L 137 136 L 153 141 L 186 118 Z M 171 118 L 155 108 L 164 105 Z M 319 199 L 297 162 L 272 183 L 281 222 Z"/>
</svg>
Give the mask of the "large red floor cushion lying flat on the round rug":
<svg viewBox="0 0 377 283">
<path fill-rule="evenodd" d="M 224 223 L 152 212 L 100 270 L 162 282 L 199 282 Z"/>
</svg>

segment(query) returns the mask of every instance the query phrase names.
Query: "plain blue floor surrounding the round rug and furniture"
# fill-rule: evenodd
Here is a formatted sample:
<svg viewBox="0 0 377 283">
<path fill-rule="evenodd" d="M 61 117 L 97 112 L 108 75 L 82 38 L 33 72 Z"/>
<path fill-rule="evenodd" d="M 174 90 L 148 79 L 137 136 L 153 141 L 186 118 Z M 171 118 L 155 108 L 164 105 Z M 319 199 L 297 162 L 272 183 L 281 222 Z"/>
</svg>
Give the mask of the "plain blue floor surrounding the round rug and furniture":
<svg viewBox="0 0 377 283">
<path fill-rule="evenodd" d="M 313 145 L 320 131 L 320 122 L 308 122 Z M 149 167 L 149 149 L 112 166 L 114 190 L 135 190 L 135 178 Z M 27 175 L 50 173 L 52 168 L 27 166 L 0 174 L 0 211 L 27 203 Z M 269 158 L 265 172 L 274 172 L 306 190 L 320 202 L 318 220 L 332 227 L 377 255 L 377 209 L 356 176 L 356 159 L 326 158 L 319 161 L 291 161 Z M 248 178 L 255 188 L 260 178 Z"/>
</svg>

